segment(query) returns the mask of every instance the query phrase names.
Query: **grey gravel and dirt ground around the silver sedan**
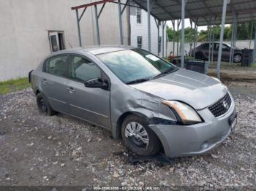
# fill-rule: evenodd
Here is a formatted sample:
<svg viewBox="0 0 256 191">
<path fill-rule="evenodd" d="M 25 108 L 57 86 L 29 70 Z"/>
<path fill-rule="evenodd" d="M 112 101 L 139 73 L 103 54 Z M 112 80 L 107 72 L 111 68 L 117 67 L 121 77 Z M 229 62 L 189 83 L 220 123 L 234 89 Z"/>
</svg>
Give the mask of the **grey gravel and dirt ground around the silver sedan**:
<svg viewBox="0 0 256 191">
<path fill-rule="evenodd" d="M 255 88 L 255 89 L 254 89 Z M 110 132 L 58 114 L 39 114 L 31 89 L 0 97 L 0 185 L 256 186 L 256 87 L 230 85 L 238 125 L 211 153 L 173 164 L 128 163 Z"/>
</svg>

